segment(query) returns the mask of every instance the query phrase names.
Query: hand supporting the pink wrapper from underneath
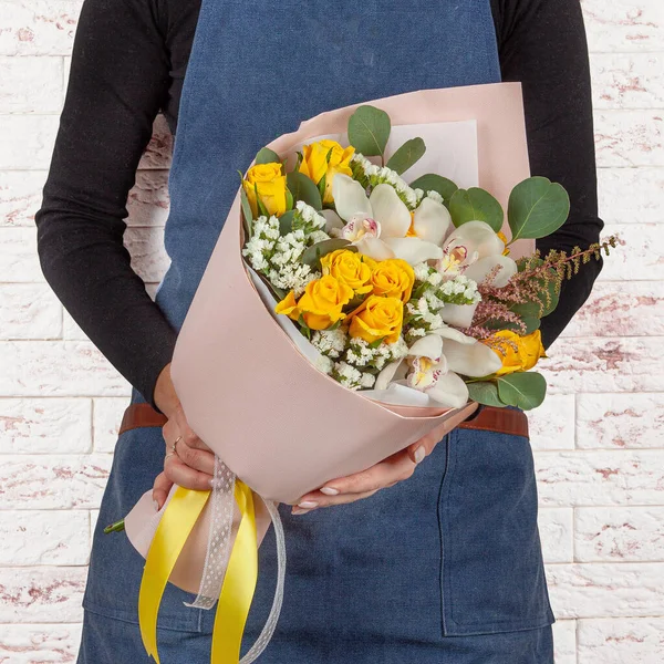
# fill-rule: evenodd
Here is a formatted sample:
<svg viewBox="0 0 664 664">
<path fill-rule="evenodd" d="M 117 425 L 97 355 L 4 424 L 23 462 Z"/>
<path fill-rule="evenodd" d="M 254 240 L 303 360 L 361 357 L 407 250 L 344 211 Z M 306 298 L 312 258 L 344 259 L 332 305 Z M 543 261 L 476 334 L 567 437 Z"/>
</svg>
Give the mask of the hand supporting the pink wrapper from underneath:
<svg viewBox="0 0 664 664">
<path fill-rule="evenodd" d="M 468 414 L 465 415 L 466 417 Z M 444 423 L 405 449 L 383 459 L 375 466 L 347 477 L 331 479 L 317 491 L 305 494 L 293 507 L 293 515 L 303 515 L 319 507 L 331 507 L 369 498 L 376 491 L 408 479 L 415 467 L 428 456 L 439 440 L 449 432 L 449 423 Z"/>
</svg>

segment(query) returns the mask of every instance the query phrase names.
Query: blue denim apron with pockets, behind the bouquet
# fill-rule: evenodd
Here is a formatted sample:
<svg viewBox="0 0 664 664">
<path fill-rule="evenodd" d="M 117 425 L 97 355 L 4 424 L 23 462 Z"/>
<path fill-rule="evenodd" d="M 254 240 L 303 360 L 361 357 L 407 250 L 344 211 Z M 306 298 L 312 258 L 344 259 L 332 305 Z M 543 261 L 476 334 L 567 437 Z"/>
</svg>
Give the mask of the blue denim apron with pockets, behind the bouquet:
<svg viewBox="0 0 664 664">
<path fill-rule="evenodd" d="M 177 329 L 256 152 L 303 120 L 427 87 L 500 80 L 489 0 L 204 0 L 169 178 L 170 268 L 157 303 Z M 144 401 L 134 392 L 134 402 Z M 159 428 L 117 440 L 102 500 L 79 664 L 148 662 L 137 629 L 143 558 L 102 533 L 162 470 Z M 527 438 L 457 429 L 407 481 L 292 516 L 286 598 L 264 664 L 550 664 L 553 661 Z M 243 651 L 277 577 L 270 530 Z M 168 585 L 164 664 L 209 661 L 214 611 Z"/>
</svg>

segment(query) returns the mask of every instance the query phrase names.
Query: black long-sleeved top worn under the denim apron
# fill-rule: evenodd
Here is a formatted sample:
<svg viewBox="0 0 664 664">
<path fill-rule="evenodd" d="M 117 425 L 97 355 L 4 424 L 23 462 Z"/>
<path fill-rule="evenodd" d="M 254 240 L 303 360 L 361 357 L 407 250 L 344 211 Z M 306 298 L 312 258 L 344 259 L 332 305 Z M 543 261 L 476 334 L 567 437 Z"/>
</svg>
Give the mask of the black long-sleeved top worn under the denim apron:
<svg viewBox="0 0 664 664">
<path fill-rule="evenodd" d="M 44 276 L 110 362 L 154 405 L 176 331 L 123 245 L 126 201 L 157 113 L 177 127 L 200 0 L 85 0 L 53 159 L 35 216 Z M 523 86 L 531 172 L 561 183 L 571 214 L 542 252 L 598 241 L 590 72 L 579 0 L 491 0 L 505 81 Z M 546 346 L 588 298 L 591 261 L 542 321 Z"/>
</svg>

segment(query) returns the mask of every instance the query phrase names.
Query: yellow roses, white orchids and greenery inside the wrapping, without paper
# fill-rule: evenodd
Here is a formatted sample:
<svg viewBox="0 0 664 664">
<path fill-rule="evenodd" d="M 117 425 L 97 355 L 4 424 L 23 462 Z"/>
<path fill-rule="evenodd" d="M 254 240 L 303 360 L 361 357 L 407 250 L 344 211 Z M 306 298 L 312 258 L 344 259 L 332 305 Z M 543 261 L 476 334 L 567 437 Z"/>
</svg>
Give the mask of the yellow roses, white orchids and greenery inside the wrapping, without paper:
<svg viewBox="0 0 664 664">
<path fill-rule="evenodd" d="M 242 179 L 242 255 L 293 322 L 287 332 L 343 386 L 392 404 L 539 406 L 546 380 L 529 370 L 546 356 L 540 321 L 562 280 L 609 243 L 512 259 L 517 240 L 566 221 L 564 188 L 518 184 L 508 240 L 489 191 L 439 174 L 406 183 L 426 145 L 413 137 L 386 155 L 390 131 L 388 114 L 365 105 L 346 146 L 307 144 L 292 170 L 261 149 Z"/>
</svg>

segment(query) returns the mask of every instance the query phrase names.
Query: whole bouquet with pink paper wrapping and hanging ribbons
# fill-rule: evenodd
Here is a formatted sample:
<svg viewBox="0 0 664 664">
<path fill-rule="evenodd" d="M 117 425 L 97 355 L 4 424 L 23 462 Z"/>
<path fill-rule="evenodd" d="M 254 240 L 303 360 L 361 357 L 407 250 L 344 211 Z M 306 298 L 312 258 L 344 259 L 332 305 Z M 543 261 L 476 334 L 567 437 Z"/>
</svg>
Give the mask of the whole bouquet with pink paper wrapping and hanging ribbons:
<svg viewBox="0 0 664 664">
<path fill-rule="evenodd" d="M 212 663 L 239 661 L 271 521 L 274 601 L 242 662 L 260 655 L 283 593 L 278 502 L 452 430 L 477 403 L 541 403 L 539 321 L 601 247 L 537 255 L 569 199 L 529 175 L 516 84 L 324 113 L 241 174 L 172 365 L 216 454 L 215 488 L 174 487 L 159 511 L 146 491 L 125 519 L 146 558 L 138 614 L 157 662 L 168 582 L 196 592 L 193 606 L 218 602 Z"/>
</svg>

